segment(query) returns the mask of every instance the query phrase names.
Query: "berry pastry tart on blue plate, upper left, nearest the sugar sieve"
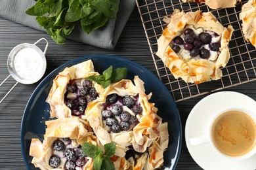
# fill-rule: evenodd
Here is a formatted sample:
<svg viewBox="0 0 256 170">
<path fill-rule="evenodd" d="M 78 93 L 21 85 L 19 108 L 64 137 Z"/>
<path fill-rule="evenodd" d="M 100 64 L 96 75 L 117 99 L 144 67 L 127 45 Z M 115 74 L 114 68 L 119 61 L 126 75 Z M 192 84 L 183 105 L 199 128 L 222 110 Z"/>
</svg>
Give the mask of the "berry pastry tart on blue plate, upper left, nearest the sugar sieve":
<svg viewBox="0 0 256 170">
<path fill-rule="evenodd" d="M 91 75 L 98 73 L 94 71 L 93 61 L 87 60 L 67 67 L 56 76 L 46 100 L 52 118 L 84 116 L 87 104 L 102 91 L 102 86 L 85 79 Z"/>
</svg>

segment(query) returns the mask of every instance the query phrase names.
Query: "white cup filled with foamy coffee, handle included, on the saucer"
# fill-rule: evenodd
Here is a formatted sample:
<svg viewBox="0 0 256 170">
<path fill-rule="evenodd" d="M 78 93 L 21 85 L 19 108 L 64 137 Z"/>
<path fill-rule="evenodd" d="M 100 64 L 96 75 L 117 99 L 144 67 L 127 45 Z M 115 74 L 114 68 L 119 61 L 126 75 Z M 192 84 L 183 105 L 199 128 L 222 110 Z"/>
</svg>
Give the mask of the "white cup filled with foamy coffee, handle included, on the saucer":
<svg viewBox="0 0 256 170">
<path fill-rule="evenodd" d="M 206 134 L 189 141 L 192 146 L 210 143 L 232 160 L 249 158 L 256 154 L 256 114 L 244 108 L 222 110 L 210 119 Z"/>
</svg>

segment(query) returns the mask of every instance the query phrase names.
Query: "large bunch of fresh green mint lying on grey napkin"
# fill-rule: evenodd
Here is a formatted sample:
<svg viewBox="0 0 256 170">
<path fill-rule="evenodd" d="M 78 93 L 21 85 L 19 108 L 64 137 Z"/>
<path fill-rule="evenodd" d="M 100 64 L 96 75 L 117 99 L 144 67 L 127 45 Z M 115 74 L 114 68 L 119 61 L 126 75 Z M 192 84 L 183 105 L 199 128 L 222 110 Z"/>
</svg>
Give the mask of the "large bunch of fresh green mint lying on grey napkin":
<svg viewBox="0 0 256 170">
<path fill-rule="evenodd" d="M 37 0 L 26 14 L 37 16 L 38 24 L 57 44 L 63 44 L 75 22 L 80 22 L 83 31 L 89 34 L 109 18 L 116 18 L 117 10 L 117 0 Z"/>
</svg>

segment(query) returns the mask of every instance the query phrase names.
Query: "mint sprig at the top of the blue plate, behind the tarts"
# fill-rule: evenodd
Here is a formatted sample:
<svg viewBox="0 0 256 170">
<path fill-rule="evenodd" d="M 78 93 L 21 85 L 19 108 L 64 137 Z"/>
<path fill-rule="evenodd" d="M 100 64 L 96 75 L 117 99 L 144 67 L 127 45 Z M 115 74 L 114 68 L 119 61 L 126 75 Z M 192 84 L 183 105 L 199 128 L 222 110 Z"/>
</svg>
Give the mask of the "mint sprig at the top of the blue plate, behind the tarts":
<svg viewBox="0 0 256 170">
<path fill-rule="evenodd" d="M 127 69 L 126 68 L 117 68 L 113 70 L 113 66 L 111 65 L 103 71 L 102 75 L 93 75 L 87 77 L 87 80 L 95 81 L 100 84 L 103 88 L 107 88 L 110 86 L 112 82 L 118 82 L 119 80 L 123 80 L 126 78 Z"/>
</svg>

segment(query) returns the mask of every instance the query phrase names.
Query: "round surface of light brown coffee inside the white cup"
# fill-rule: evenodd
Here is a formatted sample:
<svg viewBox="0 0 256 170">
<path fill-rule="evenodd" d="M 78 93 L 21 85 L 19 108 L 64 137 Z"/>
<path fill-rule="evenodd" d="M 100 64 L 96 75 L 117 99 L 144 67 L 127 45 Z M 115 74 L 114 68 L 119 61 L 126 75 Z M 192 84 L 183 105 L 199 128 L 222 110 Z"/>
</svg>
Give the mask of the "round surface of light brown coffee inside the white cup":
<svg viewBox="0 0 256 170">
<path fill-rule="evenodd" d="M 255 146 L 256 126 L 244 112 L 224 112 L 213 123 L 212 138 L 223 154 L 242 156 Z"/>
</svg>

